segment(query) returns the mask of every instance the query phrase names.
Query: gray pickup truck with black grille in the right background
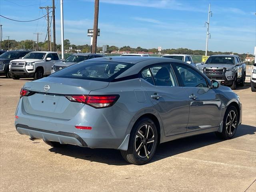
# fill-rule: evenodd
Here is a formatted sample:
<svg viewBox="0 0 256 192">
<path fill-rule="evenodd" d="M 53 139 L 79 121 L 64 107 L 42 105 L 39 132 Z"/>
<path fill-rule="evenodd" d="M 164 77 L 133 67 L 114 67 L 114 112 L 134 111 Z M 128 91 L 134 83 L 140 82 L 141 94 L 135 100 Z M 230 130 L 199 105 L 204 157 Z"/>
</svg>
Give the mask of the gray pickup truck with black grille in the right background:
<svg viewBox="0 0 256 192">
<path fill-rule="evenodd" d="M 237 55 L 212 55 L 197 68 L 208 78 L 230 86 L 233 90 L 237 85 L 244 86 L 246 64 Z"/>
</svg>

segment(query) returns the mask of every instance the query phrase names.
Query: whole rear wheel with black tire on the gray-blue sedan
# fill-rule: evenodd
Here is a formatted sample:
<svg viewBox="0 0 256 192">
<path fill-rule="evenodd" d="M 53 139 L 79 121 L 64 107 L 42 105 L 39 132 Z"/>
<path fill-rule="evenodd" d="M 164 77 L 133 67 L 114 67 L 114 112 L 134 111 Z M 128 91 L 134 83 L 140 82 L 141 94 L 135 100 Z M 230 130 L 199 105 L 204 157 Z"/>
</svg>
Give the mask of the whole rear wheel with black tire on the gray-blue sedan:
<svg viewBox="0 0 256 192">
<path fill-rule="evenodd" d="M 156 125 L 150 118 L 142 118 L 132 128 L 128 150 L 121 150 L 121 154 L 131 164 L 145 164 L 154 156 L 157 144 Z"/>
</svg>

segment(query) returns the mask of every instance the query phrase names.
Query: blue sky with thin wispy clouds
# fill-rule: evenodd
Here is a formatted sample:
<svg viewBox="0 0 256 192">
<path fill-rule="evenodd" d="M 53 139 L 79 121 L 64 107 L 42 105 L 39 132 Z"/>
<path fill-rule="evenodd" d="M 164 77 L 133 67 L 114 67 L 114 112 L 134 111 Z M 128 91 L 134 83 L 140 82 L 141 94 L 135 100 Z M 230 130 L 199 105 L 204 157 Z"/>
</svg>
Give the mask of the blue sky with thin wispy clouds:
<svg viewBox="0 0 256 192">
<path fill-rule="evenodd" d="M 255 0 L 100 0 L 97 44 L 118 47 L 189 48 L 205 50 L 208 7 L 211 4 L 208 50 L 253 54 L 256 46 Z M 14 20 L 33 20 L 46 14 L 39 6 L 52 0 L 0 0 L 0 14 Z M 60 44 L 60 0 L 56 6 L 56 43 Z M 90 44 L 94 0 L 63 0 L 64 39 Z M 45 18 L 15 22 L 0 17 L 2 40 L 46 38 Z"/>
</svg>

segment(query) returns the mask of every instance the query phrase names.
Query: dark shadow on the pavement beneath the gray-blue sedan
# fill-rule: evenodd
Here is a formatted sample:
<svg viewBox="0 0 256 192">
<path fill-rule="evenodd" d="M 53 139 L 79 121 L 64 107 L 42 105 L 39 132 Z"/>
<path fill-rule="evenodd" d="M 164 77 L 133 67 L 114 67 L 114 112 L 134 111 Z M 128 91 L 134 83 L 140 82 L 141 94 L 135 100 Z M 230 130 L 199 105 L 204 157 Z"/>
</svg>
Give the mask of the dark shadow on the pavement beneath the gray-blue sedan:
<svg viewBox="0 0 256 192">
<path fill-rule="evenodd" d="M 256 127 L 254 126 L 240 125 L 234 138 L 247 134 L 255 134 L 255 132 Z M 158 146 L 155 155 L 149 163 L 222 141 L 224 140 L 218 139 L 214 133 L 207 133 L 166 142 Z M 65 147 L 61 148 L 50 148 L 49 151 L 62 154 L 64 156 L 70 156 L 73 158 L 79 158 L 91 162 L 100 162 L 109 165 L 122 166 L 129 164 L 123 160 L 120 152 L 114 149 L 91 149 L 66 145 Z"/>
</svg>

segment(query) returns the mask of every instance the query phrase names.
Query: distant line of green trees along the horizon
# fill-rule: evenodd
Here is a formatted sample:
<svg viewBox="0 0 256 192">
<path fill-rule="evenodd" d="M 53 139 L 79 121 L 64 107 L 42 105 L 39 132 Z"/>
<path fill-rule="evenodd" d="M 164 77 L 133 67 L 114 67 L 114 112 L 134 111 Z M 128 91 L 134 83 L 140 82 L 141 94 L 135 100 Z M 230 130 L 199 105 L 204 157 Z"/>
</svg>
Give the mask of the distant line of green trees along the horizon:
<svg viewBox="0 0 256 192">
<path fill-rule="evenodd" d="M 45 42 L 38 42 L 39 50 L 46 51 L 48 50 L 48 41 Z M 53 43 L 52 43 L 53 47 Z M 70 49 L 72 47 L 72 49 Z M 9 50 L 15 50 L 15 49 L 36 49 L 37 44 L 33 40 L 22 40 L 22 41 L 16 41 L 16 40 L 9 40 Z M 2 49 L 8 50 L 8 40 L 2 40 Z M 56 49 L 58 52 L 61 51 L 61 45 L 56 44 Z M 76 52 L 76 50 L 81 50 L 81 52 L 90 52 L 91 46 L 88 44 L 85 45 L 75 45 L 71 44 L 70 40 L 65 39 L 64 40 L 64 50 L 65 52 Z M 67 51 L 66 51 L 67 50 Z M 97 52 L 102 51 L 102 47 L 97 48 Z M 152 48 L 152 49 L 146 49 L 146 48 L 132 48 L 130 46 L 122 46 L 118 48 L 117 46 L 110 46 L 107 45 L 107 53 L 111 53 L 112 51 L 130 51 L 130 52 L 152 52 L 154 54 L 158 54 L 158 49 Z M 191 50 L 187 48 L 177 48 L 177 49 L 163 49 L 161 51 L 161 54 L 189 54 L 189 55 L 204 55 L 204 50 Z M 208 51 L 208 55 L 215 55 L 215 54 L 235 54 L 240 56 L 242 60 L 245 60 L 247 57 L 246 53 L 238 54 L 234 52 L 212 52 Z M 248 57 L 254 57 L 252 54 L 249 54 Z"/>
</svg>

